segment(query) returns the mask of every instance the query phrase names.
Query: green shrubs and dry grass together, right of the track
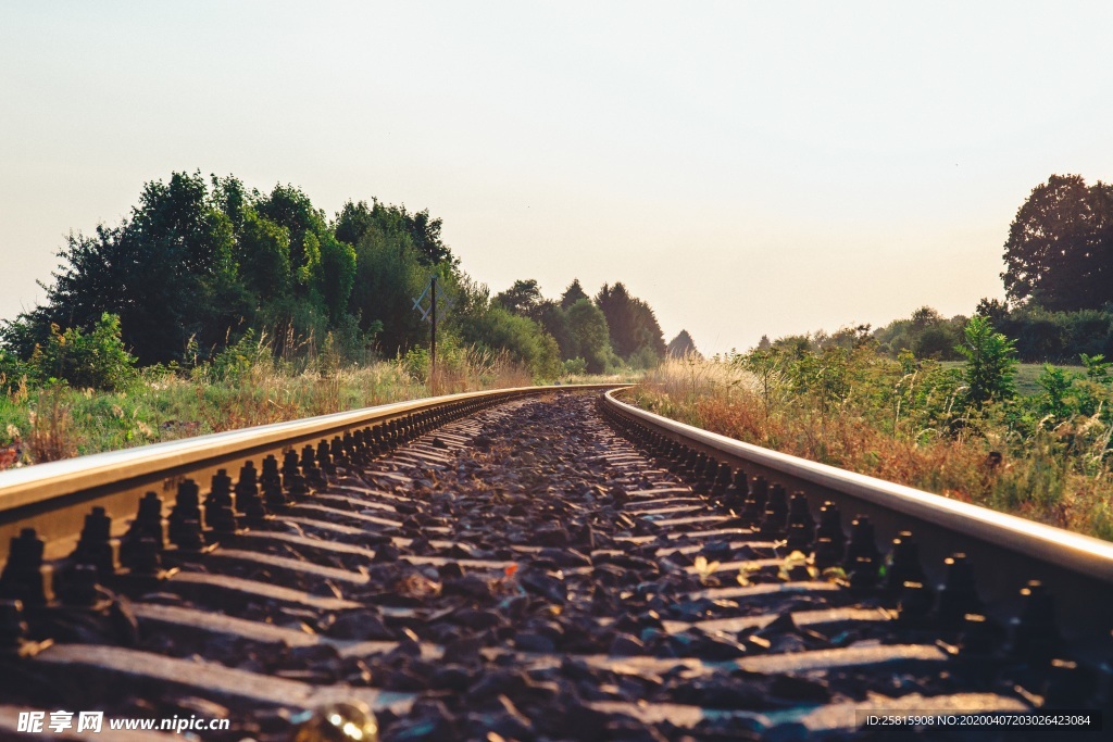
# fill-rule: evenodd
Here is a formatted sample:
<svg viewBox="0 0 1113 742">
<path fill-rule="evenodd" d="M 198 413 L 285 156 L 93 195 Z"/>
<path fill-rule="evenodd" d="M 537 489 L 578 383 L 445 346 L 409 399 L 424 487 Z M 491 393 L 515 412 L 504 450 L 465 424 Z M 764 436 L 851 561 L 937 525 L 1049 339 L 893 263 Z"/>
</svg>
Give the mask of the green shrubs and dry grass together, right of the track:
<svg viewBox="0 0 1113 742">
<path fill-rule="evenodd" d="M 1113 540 L 1113 387 L 1044 368 L 1037 390 L 971 404 L 965 367 L 863 344 L 669 360 L 630 397 L 730 437 Z"/>
</svg>

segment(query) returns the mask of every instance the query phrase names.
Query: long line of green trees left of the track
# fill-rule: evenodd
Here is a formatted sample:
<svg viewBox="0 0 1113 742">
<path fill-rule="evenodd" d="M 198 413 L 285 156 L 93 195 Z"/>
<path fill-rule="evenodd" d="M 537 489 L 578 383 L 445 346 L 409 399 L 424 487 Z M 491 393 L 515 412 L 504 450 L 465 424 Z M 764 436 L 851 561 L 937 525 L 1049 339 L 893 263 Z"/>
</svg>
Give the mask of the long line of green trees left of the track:
<svg viewBox="0 0 1113 742">
<path fill-rule="evenodd" d="M 573 281 L 554 301 L 521 280 L 492 299 L 441 229 L 427 209 L 349 200 L 328 218 L 294 186 L 175 172 L 146 184 L 118 225 L 69 235 L 46 300 L 0 327 L 0 378 L 111 387 L 122 377 L 90 376 L 97 358 L 190 366 L 259 337 L 284 358 L 325 344 L 351 360 L 393 357 L 427 343 L 412 298 L 433 275 L 453 303 L 447 342 L 505 352 L 539 377 L 664 356 L 652 309 L 623 284 L 590 298 Z"/>
</svg>

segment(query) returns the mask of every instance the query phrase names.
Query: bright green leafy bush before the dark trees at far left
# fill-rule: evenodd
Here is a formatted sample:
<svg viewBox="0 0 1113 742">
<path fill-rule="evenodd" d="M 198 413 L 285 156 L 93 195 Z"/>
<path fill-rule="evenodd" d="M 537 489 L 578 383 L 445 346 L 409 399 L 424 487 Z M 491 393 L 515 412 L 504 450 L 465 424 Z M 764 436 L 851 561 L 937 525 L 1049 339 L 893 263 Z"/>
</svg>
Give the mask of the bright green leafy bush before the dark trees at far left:
<svg viewBox="0 0 1113 742">
<path fill-rule="evenodd" d="M 105 313 L 89 334 L 50 326 L 50 337 L 31 355 L 30 376 L 39 384 L 51 379 L 71 386 L 121 389 L 136 378 L 136 359 L 120 339 L 120 318 Z"/>
</svg>

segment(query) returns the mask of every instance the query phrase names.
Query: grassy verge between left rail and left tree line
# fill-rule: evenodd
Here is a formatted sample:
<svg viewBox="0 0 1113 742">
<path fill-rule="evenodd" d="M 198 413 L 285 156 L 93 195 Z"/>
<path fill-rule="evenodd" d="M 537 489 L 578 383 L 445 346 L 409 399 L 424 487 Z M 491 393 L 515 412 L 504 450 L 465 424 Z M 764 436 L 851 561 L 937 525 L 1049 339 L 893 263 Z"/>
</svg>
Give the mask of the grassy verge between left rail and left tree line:
<svg viewBox="0 0 1113 742">
<path fill-rule="evenodd" d="M 530 386 L 506 353 L 447 347 L 437 374 L 412 353 L 345 364 L 336 354 L 276 360 L 266 343 L 240 343 L 191 369 L 149 367 L 111 390 L 55 379 L 0 394 L 0 468 L 195 435 L 358 409 L 440 394 Z M 562 383 L 611 380 L 565 376 Z"/>
</svg>

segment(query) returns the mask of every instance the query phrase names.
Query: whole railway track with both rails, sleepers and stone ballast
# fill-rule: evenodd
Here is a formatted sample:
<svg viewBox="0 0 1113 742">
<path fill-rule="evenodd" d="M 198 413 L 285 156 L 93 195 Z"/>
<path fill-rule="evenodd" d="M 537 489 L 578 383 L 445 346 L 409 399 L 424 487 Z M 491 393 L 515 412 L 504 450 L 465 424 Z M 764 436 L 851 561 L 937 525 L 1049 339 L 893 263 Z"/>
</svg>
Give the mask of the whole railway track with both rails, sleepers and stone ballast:
<svg viewBox="0 0 1113 742">
<path fill-rule="evenodd" d="M 41 465 L 0 475 L 0 739 L 1043 739 L 866 723 L 1109 708 L 1113 551 L 1014 521 L 599 388 Z"/>
</svg>

